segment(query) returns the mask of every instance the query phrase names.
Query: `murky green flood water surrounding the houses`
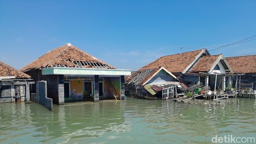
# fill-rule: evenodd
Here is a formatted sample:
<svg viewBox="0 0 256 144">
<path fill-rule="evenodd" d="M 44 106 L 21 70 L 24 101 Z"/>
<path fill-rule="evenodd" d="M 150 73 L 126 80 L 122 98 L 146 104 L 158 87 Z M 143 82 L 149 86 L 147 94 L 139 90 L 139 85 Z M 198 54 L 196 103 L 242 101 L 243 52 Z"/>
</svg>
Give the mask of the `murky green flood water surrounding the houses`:
<svg viewBox="0 0 256 144">
<path fill-rule="evenodd" d="M 53 112 L 35 102 L 1 103 L 0 143 L 205 144 L 215 135 L 256 137 L 255 99 L 219 101 L 207 107 L 127 97 L 54 105 Z"/>
</svg>

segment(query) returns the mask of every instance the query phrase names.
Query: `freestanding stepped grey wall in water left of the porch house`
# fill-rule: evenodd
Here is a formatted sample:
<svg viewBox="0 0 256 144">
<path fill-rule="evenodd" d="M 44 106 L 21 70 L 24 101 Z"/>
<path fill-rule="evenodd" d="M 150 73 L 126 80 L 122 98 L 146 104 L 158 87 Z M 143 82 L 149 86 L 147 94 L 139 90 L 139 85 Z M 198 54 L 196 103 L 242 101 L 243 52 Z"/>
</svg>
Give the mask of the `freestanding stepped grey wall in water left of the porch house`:
<svg viewBox="0 0 256 144">
<path fill-rule="evenodd" d="M 36 94 L 31 93 L 31 101 L 38 102 L 53 111 L 53 100 L 47 97 L 47 82 L 37 81 Z"/>
</svg>

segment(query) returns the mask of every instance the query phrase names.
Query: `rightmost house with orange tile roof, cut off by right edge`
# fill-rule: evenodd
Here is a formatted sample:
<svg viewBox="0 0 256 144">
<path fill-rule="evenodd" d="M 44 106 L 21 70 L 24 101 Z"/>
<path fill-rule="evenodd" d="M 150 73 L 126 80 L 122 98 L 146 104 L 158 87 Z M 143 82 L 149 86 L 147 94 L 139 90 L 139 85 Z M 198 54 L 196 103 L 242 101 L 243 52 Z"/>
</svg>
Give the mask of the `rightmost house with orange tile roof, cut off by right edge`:
<svg viewBox="0 0 256 144">
<path fill-rule="evenodd" d="M 234 77 L 231 87 L 236 87 L 237 83 L 237 88 L 240 85 L 241 89 L 256 90 L 256 55 L 226 57 L 226 60 L 234 74 L 239 75 L 238 78 Z"/>
</svg>

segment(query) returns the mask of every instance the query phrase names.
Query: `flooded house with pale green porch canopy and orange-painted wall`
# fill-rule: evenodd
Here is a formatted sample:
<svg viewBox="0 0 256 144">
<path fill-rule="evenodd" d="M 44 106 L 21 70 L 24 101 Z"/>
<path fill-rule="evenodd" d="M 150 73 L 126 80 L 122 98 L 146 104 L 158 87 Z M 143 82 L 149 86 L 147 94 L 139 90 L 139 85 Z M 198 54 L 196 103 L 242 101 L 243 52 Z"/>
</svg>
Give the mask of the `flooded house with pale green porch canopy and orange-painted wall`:
<svg viewBox="0 0 256 144">
<path fill-rule="evenodd" d="M 34 81 L 47 81 L 47 96 L 59 105 L 68 100 L 124 100 L 124 76 L 131 75 L 131 70 L 116 69 L 70 43 L 47 52 L 22 71 Z"/>
</svg>

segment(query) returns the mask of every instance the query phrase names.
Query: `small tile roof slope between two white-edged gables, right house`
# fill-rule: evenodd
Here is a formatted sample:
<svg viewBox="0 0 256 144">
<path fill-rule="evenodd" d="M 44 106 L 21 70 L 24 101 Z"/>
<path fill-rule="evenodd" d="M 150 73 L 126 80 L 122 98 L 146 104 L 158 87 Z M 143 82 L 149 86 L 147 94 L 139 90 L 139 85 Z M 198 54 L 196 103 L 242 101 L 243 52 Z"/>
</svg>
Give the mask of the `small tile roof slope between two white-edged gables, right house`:
<svg viewBox="0 0 256 144">
<path fill-rule="evenodd" d="M 211 69 L 214 62 L 220 55 L 208 55 L 203 56 L 199 59 L 195 66 L 190 70 L 190 72 L 207 72 Z"/>
</svg>

